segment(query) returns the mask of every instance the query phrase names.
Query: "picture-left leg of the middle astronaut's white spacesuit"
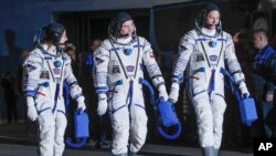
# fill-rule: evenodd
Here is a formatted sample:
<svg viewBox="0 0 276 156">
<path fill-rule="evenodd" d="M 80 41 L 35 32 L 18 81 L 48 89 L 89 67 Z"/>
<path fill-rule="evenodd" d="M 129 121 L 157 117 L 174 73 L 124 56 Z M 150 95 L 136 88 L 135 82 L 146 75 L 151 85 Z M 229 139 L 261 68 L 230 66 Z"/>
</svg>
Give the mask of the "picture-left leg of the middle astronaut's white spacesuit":
<svg viewBox="0 0 276 156">
<path fill-rule="evenodd" d="M 124 91 L 123 85 L 117 86 L 116 93 L 108 104 L 113 126 L 113 155 L 127 154 L 128 152 L 129 112 Z"/>
</svg>

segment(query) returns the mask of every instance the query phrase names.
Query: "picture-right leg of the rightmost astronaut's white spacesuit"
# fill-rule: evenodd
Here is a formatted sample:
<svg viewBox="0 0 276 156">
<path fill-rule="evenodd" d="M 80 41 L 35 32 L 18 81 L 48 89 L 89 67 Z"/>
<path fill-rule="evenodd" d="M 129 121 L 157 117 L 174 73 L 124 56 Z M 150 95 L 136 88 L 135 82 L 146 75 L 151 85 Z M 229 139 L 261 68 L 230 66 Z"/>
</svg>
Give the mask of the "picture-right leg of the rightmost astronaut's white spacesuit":
<svg viewBox="0 0 276 156">
<path fill-rule="evenodd" d="M 220 95 L 215 95 L 214 102 L 212 104 L 213 110 L 213 123 L 214 123 L 214 148 L 219 149 L 222 142 L 222 131 L 223 131 L 223 115 L 226 108 L 226 103 L 224 98 Z"/>
</svg>

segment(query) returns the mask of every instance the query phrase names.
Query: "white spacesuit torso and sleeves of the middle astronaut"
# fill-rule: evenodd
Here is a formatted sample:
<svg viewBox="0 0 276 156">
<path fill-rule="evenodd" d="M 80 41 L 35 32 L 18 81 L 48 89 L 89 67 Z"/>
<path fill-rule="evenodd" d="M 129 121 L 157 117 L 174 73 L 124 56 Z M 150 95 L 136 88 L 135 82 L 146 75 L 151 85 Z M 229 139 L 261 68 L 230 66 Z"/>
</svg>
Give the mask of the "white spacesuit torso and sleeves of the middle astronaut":
<svg viewBox="0 0 276 156">
<path fill-rule="evenodd" d="M 130 89 L 139 89 L 132 95 L 134 98 L 138 96 L 139 102 L 137 103 L 142 104 L 142 107 L 144 101 L 142 93 L 139 93 L 141 91 L 139 79 L 144 77 L 144 67 L 148 70 L 151 77 L 161 75 L 149 42 L 141 37 L 128 44 L 118 44 L 112 40 L 105 40 L 102 46 L 96 50 L 95 62 L 97 63 L 94 71 L 94 74 L 96 72 L 97 75 L 95 79 L 97 93 L 107 92 L 108 89 L 110 91 L 109 96 L 113 96 L 114 93 L 118 96 L 123 94 L 126 96 L 124 98 L 126 102 L 129 98 Z M 107 69 L 99 67 L 102 65 Z M 153 82 L 153 84 L 156 86 L 161 85 L 163 80 Z"/>
</svg>

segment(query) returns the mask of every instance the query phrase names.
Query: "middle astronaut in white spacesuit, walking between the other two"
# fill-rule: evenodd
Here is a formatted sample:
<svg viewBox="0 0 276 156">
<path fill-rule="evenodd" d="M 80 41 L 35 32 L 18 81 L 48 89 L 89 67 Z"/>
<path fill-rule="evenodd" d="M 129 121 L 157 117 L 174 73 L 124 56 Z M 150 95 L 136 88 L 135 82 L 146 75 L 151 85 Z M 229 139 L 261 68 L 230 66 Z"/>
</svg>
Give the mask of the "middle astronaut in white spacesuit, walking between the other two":
<svg viewBox="0 0 276 156">
<path fill-rule="evenodd" d="M 109 38 L 95 51 L 95 89 L 99 115 L 107 107 L 113 126 L 112 153 L 135 156 L 145 144 L 148 117 L 142 86 L 144 67 L 159 91 L 168 100 L 164 81 L 155 60 L 150 43 L 136 34 L 132 18 L 119 12 L 108 27 Z"/>
</svg>

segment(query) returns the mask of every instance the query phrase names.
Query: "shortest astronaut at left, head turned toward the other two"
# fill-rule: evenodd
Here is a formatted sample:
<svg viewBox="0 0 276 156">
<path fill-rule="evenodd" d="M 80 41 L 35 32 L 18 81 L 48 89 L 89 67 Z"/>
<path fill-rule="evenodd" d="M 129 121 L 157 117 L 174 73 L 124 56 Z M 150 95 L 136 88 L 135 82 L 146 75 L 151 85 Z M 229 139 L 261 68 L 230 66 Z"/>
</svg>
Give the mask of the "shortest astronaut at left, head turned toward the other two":
<svg viewBox="0 0 276 156">
<path fill-rule="evenodd" d="M 77 107 L 84 111 L 86 106 L 71 69 L 71 59 L 62 50 L 67 40 L 65 28 L 51 23 L 43 31 L 44 42 L 39 41 L 23 63 L 28 117 L 39 123 L 40 156 L 62 156 L 67 125 L 62 94 L 64 81 Z"/>
</svg>

